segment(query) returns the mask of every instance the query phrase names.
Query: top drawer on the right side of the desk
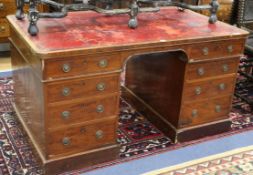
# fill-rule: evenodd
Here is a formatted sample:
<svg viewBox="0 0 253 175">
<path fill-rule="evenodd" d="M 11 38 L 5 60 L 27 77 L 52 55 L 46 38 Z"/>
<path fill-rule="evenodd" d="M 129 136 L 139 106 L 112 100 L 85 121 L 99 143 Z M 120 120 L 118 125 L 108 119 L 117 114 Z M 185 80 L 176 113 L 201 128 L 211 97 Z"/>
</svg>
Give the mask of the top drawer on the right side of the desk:
<svg viewBox="0 0 253 175">
<path fill-rule="evenodd" d="M 238 56 L 243 53 L 244 43 L 244 39 L 233 39 L 192 44 L 188 46 L 187 53 L 189 58 L 193 58 L 192 61 Z"/>
</svg>

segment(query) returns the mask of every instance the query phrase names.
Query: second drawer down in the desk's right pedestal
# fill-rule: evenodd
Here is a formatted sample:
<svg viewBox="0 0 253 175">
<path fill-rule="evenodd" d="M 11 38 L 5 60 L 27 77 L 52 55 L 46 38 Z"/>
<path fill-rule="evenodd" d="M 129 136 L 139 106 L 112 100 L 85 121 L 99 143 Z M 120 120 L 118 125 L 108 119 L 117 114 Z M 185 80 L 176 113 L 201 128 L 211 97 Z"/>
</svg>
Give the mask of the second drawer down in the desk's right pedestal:
<svg viewBox="0 0 253 175">
<path fill-rule="evenodd" d="M 212 62 L 188 64 L 186 70 L 186 80 L 197 80 L 236 73 L 238 66 L 239 57 Z"/>
</svg>

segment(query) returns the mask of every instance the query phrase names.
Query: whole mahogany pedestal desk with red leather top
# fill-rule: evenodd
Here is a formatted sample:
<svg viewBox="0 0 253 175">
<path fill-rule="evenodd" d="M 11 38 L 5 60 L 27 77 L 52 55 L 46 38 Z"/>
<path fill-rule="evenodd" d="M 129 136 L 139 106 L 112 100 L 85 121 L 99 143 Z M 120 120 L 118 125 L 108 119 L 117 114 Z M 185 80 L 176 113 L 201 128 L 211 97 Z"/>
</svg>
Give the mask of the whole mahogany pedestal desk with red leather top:
<svg viewBox="0 0 253 175">
<path fill-rule="evenodd" d="M 117 157 L 121 95 L 174 142 L 229 128 L 247 32 L 174 7 L 138 19 L 75 12 L 31 37 L 8 17 L 15 109 L 45 174 Z"/>
</svg>

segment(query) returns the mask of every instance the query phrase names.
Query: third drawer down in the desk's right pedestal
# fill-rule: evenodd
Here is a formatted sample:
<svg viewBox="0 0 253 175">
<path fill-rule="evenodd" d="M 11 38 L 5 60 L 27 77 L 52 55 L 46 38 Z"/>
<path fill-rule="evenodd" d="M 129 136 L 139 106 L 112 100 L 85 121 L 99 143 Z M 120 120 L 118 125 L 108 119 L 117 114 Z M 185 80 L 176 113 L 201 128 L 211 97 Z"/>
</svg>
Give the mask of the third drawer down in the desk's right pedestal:
<svg viewBox="0 0 253 175">
<path fill-rule="evenodd" d="M 234 93 L 236 74 L 221 78 L 185 83 L 183 102 L 213 98 Z"/>
</svg>

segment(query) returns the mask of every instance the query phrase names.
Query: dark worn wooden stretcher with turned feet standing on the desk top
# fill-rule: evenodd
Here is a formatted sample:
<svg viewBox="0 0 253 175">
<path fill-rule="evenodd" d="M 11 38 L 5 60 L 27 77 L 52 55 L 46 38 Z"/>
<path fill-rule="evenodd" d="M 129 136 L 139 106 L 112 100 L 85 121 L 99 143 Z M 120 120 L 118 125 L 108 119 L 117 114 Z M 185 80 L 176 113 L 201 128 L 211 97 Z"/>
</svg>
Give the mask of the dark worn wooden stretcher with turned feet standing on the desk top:
<svg viewBox="0 0 253 175">
<path fill-rule="evenodd" d="M 100 0 L 103 1 L 103 0 Z M 208 5 L 190 5 L 183 0 L 180 2 L 174 2 L 171 0 L 131 0 L 129 8 L 124 9 L 113 9 L 112 3 L 113 0 L 106 0 L 106 8 L 101 8 L 96 6 L 97 0 L 91 0 L 88 2 L 81 1 L 81 3 L 74 4 L 63 4 L 51 0 L 16 0 L 17 3 L 17 11 L 16 17 L 19 20 L 22 20 L 24 15 L 24 5 L 29 5 L 28 10 L 28 19 L 30 21 L 30 25 L 28 27 L 28 32 L 30 35 L 35 36 L 38 34 L 39 29 L 37 27 L 37 21 L 39 18 L 63 18 L 67 16 L 69 11 L 87 11 L 92 10 L 98 13 L 103 13 L 107 15 L 118 15 L 118 14 L 128 14 L 130 16 L 128 26 L 132 29 L 138 27 L 137 15 L 139 13 L 145 12 L 158 12 L 161 6 L 176 6 L 180 11 L 184 11 L 184 9 L 190 9 L 194 11 L 198 10 L 210 10 L 209 23 L 215 23 L 217 21 L 216 12 L 219 7 L 219 3 L 217 0 L 211 0 Z M 41 13 L 36 9 L 38 4 L 45 4 L 47 6 L 54 7 L 59 10 L 59 12 L 47 12 Z M 144 5 L 145 7 L 142 7 Z"/>
</svg>

